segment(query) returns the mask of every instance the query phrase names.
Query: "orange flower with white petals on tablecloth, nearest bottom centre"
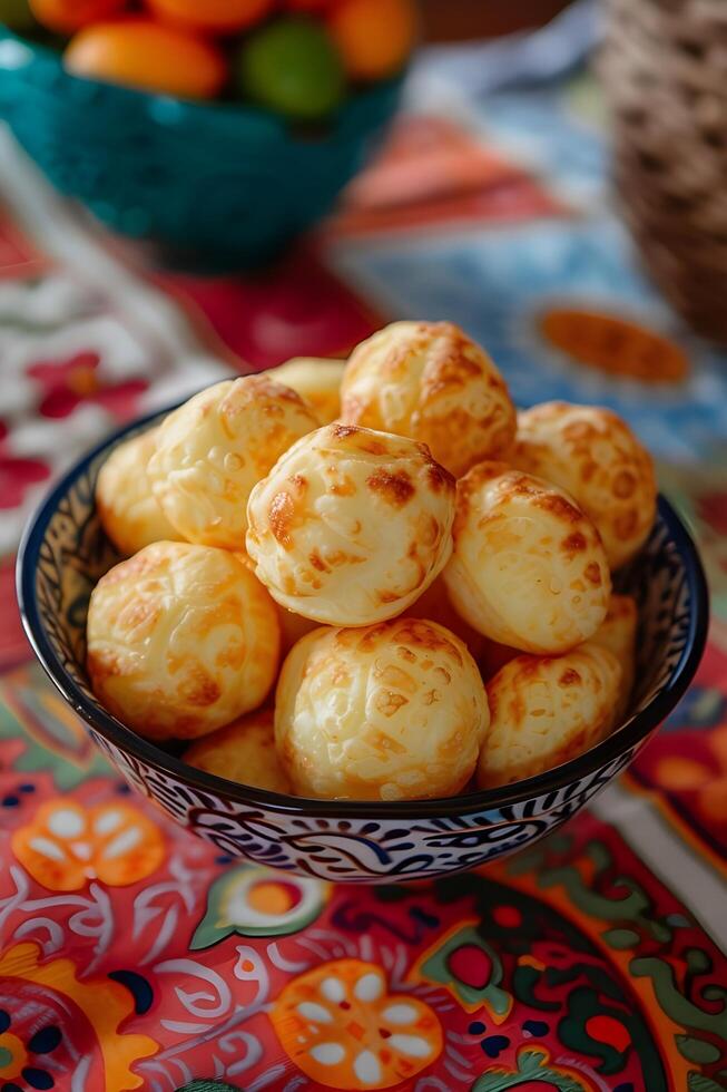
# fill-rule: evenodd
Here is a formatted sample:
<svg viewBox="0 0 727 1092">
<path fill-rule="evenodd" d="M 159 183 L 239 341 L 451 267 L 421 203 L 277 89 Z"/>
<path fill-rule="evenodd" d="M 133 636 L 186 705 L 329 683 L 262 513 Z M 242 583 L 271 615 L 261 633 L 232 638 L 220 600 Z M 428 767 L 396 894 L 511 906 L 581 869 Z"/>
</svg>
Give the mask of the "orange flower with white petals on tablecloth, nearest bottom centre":
<svg viewBox="0 0 727 1092">
<path fill-rule="evenodd" d="M 331 1089 L 392 1088 L 442 1051 L 442 1027 L 429 1005 L 390 994 L 381 967 L 361 959 L 324 963 L 294 978 L 271 1020 L 288 1057 Z"/>
</svg>

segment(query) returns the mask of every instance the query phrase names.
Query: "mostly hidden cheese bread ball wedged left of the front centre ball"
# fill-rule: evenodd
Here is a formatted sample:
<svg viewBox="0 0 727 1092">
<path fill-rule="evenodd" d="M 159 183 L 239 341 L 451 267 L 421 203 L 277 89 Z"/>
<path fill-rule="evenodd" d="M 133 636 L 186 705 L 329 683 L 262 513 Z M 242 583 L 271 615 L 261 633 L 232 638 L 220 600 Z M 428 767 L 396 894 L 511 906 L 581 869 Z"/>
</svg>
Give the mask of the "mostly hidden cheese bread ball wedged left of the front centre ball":
<svg viewBox="0 0 727 1092">
<path fill-rule="evenodd" d="M 185 751 L 184 759 L 189 766 L 228 781 L 271 792 L 291 791 L 275 749 L 272 710 L 248 713 L 205 735 Z"/>
</svg>

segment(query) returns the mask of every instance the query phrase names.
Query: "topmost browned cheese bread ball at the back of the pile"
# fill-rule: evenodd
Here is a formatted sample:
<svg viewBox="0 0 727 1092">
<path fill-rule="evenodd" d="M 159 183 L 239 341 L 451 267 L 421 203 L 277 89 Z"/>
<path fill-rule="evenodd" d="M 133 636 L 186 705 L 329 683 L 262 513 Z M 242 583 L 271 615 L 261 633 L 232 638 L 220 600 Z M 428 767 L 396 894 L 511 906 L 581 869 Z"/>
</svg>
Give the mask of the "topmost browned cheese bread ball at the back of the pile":
<svg viewBox="0 0 727 1092">
<path fill-rule="evenodd" d="M 458 478 L 503 458 L 515 435 L 502 376 L 451 322 L 393 322 L 354 349 L 341 420 L 421 440 Z"/>
</svg>

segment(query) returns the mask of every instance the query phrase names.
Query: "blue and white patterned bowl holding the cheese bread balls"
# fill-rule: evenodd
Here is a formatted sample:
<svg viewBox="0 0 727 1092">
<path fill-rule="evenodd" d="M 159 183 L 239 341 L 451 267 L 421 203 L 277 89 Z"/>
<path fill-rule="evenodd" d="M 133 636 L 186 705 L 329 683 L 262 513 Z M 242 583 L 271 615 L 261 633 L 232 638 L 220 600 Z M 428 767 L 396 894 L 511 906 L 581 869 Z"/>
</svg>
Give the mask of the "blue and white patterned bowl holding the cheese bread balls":
<svg viewBox="0 0 727 1092">
<path fill-rule="evenodd" d="M 86 612 L 118 560 L 94 504 L 98 470 L 137 421 L 81 459 L 41 505 L 18 559 L 18 598 L 33 649 L 91 738 L 126 780 L 223 852 L 347 883 L 425 879 L 510 854 L 559 827 L 623 770 L 691 681 L 708 598 L 695 545 L 670 505 L 619 589 L 640 606 L 637 691 L 629 719 L 598 747 L 518 784 L 444 800 L 304 800 L 191 769 L 141 739 L 95 699 L 85 669 Z"/>
</svg>

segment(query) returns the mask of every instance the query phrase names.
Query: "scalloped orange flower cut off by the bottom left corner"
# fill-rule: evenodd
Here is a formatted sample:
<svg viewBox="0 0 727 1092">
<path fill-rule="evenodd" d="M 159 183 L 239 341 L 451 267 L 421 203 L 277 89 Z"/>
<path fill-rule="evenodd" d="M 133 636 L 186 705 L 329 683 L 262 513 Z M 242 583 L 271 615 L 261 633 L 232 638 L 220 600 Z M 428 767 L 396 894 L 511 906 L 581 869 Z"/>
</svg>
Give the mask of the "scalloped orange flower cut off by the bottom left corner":
<svg viewBox="0 0 727 1092">
<path fill-rule="evenodd" d="M 33 942 L 17 944 L 0 956 L 0 979 L 4 978 L 16 979 L 19 984 L 37 983 L 76 1006 L 96 1035 L 104 1065 L 104 1092 L 128 1092 L 141 1085 L 141 1078 L 131 1072 L 130 1065 L 155 1054 L 158 1045 L 148 1035 L 119 1033 L 121 1022 L 134 1012 L 134 1002 L 124 986 L 108 978 L 79 982 L 70 959 L 41 963 L 40 947 Z M 81 1025 L 80 1017 L 72 1020 L 76 1027 Z M 14 1036 L 10 1037 L 14 1040 Z M 7 1071 L 2 1072 L 2 1078 L 8 1079 L 12 1069 L 23 1064 L 26 1051 L 22 1044 L 10 1043 L 8 1036 L 4 1040 L 8 1054 L 13 1055 Z M 88 1040 L 86 1045 L 90 1046 Z"/>
</svg>

